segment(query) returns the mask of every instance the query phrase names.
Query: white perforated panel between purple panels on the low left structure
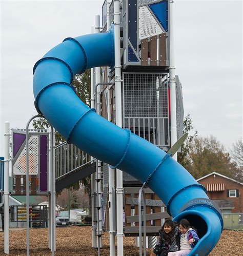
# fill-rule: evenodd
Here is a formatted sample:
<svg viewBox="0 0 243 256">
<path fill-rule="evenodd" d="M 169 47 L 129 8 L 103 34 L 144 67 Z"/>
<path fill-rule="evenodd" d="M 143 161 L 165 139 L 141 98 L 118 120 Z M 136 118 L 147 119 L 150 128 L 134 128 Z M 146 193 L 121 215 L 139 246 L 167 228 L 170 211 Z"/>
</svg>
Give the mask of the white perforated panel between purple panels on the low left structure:
<svg viewBox="0 0 243 256">
<path fill-rule="evenodd" d="M 39 162 L 39 140 L 37 135 L 32 135 L 29 139 L 29 174 L 38 174 Z M 13 165 L 13 174 L 26 174 L 26 146 L 19 155 L 17 161 Z"/>
</svg>

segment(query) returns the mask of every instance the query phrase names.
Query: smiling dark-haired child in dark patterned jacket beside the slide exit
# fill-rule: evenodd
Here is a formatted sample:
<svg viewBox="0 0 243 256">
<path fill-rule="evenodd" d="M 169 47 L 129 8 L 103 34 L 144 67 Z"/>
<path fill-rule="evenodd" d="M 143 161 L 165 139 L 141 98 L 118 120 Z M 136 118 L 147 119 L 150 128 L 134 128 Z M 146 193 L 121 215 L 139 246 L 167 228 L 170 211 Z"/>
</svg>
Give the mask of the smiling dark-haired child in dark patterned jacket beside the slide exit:
<svg viewBox="0 0 243 256">
<path fill-rule="evenodd" d="M 180 240 L 179 228 L 172 220 L 165 221 L 159 230 L 159 238 L 157 239 L 154 251 L 151 256 L 160 255 L 167 256 L 169 251 L 178 251 Z"/>
</svg>

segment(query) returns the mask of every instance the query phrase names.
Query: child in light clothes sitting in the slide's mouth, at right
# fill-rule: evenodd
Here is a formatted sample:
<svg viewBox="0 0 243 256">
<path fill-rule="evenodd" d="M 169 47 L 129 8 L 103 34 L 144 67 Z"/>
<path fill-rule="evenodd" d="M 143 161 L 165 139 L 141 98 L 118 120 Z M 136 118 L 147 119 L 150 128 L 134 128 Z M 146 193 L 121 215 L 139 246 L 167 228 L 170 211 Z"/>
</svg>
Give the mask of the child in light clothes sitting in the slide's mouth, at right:
<svg viewBox="0 0 243 256">
<path fill-rule="evenodd" d="M 186 219 L 182 219 L 179 222 L 180 234 L 180 250 L 175 252 L 169 252 L 168 256 L 186 256 L 188 255 L 192 248 L 199 241 L 197 233 L 194 229 L 190 227 L 190 223 Z"/>
</svg>

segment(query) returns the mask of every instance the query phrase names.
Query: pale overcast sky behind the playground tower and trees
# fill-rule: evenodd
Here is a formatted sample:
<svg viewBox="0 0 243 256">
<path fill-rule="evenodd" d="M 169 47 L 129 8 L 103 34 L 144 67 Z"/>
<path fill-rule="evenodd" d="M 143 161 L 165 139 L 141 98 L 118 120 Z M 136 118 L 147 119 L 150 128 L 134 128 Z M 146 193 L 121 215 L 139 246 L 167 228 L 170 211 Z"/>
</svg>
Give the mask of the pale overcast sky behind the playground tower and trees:
<svg viewBox="0 0 243 256">
<path fill-rule="evenodd" d="M 5 121 L 25 128 L 36 114 L 35 62 L 64 38 L 89 34 L 103 2 L 1 1 L 1 144 Z M 242 2 L 174 2 L 185 115 L 199 135 L 212 134 L 229 149 L 242 136 Z"/>
</svg>

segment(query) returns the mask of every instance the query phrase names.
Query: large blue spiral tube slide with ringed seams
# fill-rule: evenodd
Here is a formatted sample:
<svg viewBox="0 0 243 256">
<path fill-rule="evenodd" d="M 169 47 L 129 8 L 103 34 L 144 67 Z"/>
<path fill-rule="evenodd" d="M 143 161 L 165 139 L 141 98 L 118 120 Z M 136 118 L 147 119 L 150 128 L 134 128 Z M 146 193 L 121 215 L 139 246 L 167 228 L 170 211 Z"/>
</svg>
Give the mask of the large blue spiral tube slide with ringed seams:
<svg viewBox="0 0 243 256">
<path fill-rule="evenodd" d="M 96 159 L 147 181 L 167 205 L 175 221 L 187 218 L 200 241 L 190 255 L 207 255 L 222 230 L 220 210 L 193 176 L 163 150 L 97 115 L 79 100 L 71 83 L 75 74 L 114 63 L 114 34 L 96 33 L 66 38 L 34 68 L 35 107 L 69 143 Z"/>
</svg>

